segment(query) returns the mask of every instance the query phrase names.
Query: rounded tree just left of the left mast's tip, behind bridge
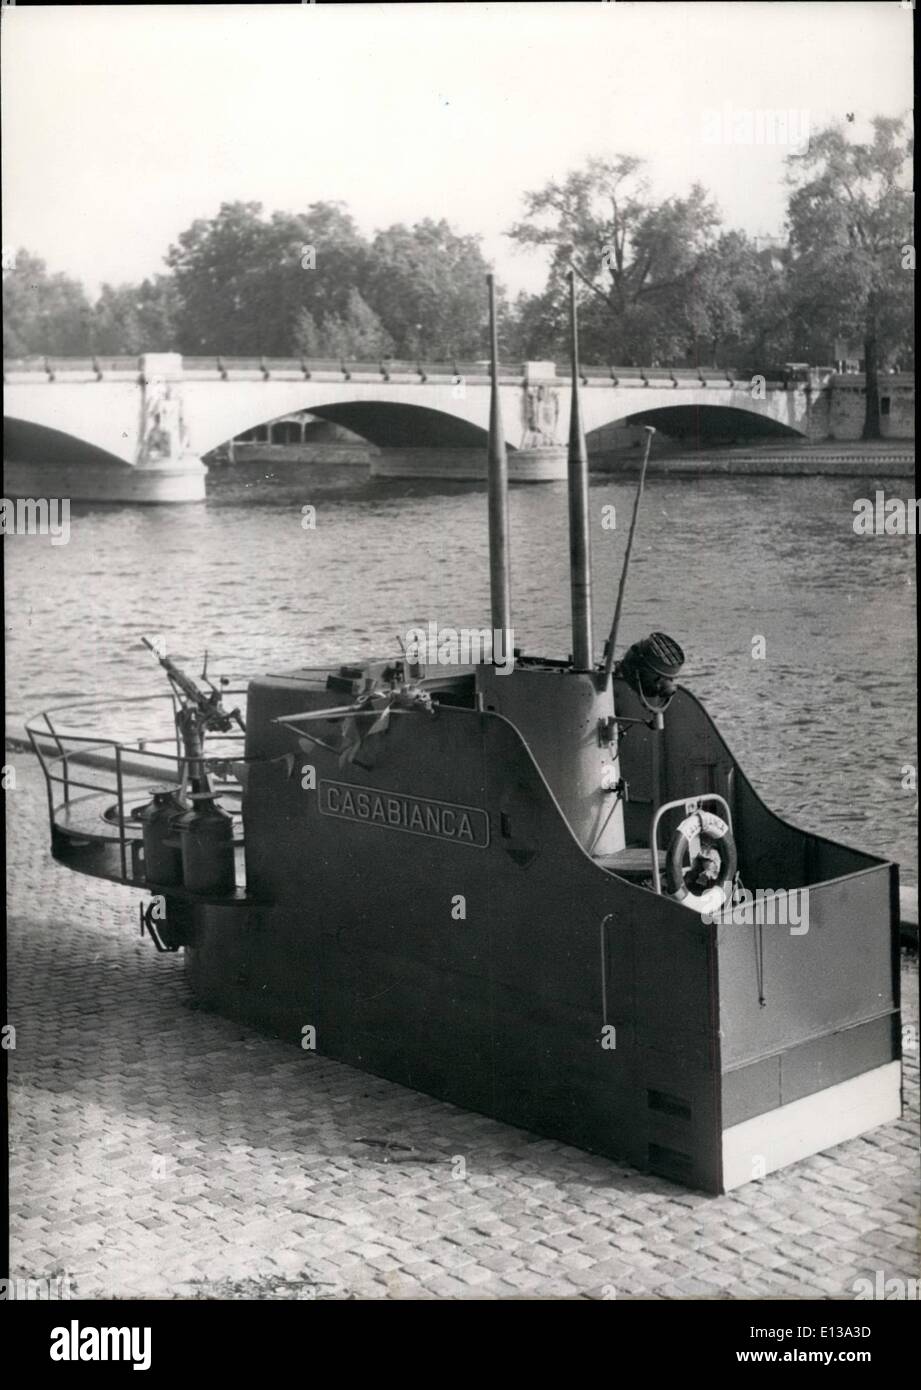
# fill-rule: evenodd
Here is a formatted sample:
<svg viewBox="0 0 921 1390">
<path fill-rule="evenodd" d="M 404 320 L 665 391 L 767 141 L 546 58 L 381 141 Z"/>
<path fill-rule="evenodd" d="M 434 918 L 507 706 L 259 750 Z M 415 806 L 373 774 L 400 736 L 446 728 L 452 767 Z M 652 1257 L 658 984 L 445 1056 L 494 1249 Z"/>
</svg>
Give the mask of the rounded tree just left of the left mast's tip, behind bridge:
<svg viewBox="0 0 921 1390">
<path fill-rule="evenodd" d="M 488 270 L 479 238 L 458 235 L 445 220 L 378 232 L 365 299 L 393 339 L 395 354 L 483 357 Z"/>
</svg>

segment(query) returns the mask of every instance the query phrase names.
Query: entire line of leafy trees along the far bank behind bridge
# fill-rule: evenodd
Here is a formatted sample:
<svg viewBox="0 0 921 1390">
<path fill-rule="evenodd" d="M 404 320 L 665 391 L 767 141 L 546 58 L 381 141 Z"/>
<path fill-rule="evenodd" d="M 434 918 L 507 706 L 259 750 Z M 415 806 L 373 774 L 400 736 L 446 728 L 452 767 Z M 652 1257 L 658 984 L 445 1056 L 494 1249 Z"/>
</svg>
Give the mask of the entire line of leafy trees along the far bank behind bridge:
<svg viewBox="0 0 921 1390">
<path fill-rule="evenodd" d="M 550 253 L 539 293 L 499 292 L 506 360 L 567 354 L 565 277 L 582 285 L 586 363 L 736 366 L 833 360 L 858 345 L 867 373 L 913 363 L 911 133 L 878 117 L 867 142 L 839 125 L 786 160 L 786 234 L 763 245 L 727 228 L 693 183 L 657 199 L 632 156 L 590 158 L 524 196 L 507 235 Z M 347 207 L 267 214 L 224 203 L 196 220 L 139 285 L 50 274 L 26 250 L 4 265 L 7 357 L 181 352 L 375 361 L 485 352 L 478 236 L 446 221 L 368 238 Z M 868 392 L 870 395 L 870 392 Z"/>
</svg>

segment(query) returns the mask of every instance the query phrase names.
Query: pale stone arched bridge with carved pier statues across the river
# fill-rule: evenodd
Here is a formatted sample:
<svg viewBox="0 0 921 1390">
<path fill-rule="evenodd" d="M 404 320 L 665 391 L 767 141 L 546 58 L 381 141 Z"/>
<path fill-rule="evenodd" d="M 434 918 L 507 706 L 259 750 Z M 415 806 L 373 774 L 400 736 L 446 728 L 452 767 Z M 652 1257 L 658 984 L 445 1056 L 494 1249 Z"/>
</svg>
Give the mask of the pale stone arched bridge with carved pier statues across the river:
<svg viewBox="0 0 921 1390">
<path fill-rule="evenodd" d="M 586 368 L 585 430 L 653 424 L 667 435 L 824 438 L 829 371 L 786 381 L 688 368 Z M 845 378 L 854 379 L 854 378 Z M 863 382 L 863 378 L 861 378 Z M 185 502 L 204 496 L 204 455 L 294 411 L 376 446 L 385 475 L 483 477 L 485 363 L 408 364 L 256 359 L 29 359 L 4 363 L 11 460 L 53 464 L 72 499 Z M 500 368 L 510 477 L 558 478 L 570 382 L 549 361 Z M 49 478 L 50 482 L 50 478 Z M 50 495 L 50 493 L 49 493 Z"/>
</svg>

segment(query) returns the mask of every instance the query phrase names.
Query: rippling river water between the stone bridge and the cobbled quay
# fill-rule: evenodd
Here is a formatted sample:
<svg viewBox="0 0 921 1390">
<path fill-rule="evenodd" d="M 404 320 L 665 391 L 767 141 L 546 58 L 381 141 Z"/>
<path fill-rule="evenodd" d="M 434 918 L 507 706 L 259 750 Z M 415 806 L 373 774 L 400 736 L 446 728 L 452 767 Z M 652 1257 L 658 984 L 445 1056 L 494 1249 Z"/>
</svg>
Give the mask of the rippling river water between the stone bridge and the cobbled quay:
<svg viewBox="0 0 921 1390">
<path fill-rule="evenodd" d="M 868 478 L 653 478 L 621 627 L 660 628 L 774 809 L 899 859 L 917 881 L 913 537 L 857 537 Z M 485 627 L 485 484 L 222 470 L 201 505 L 74 505 L 67 545 L 4 541 L 7 726 L 88 695 L 165 689 L 140 634 L 246 681 L 397 655 L 417 623 Z M 886 485 L 903 496 L 907 480 Z M 595 631 L 613 614 L 633 484 L 590 488 Z M 301 509 L 315 507 L 315 528 Z M 604 507 L 614 505 L 615 527 Z M 511 489 L 513 620 L 528 653 L 570 651 L 565 484 Z M 753 656 L 764 639 L 764 656 Z"/>
</svg>

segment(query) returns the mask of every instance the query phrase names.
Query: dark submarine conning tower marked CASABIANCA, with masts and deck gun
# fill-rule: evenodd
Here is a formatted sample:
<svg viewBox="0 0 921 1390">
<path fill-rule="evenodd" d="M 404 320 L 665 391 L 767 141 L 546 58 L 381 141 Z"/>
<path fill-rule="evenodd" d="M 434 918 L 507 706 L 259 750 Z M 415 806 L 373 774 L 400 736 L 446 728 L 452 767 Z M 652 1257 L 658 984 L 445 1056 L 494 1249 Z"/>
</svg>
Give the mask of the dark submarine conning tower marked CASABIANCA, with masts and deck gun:
<svg viewBox="0 0 921 1390">
<path fill-rule="evenodd" d="M 185 949 L 206 1005 L 720 1193 L 900 1115 L 897 869 L 768 810 L 675 684 L 677 641 L 615 659 L 645 466 L 596 662 L 572 274 L 570 296 L 568 660 L 497 659 L 514 639 L 490 278 L 493 660 L 433 664 L 420 644 L 258 677 L 229 763 L 208 748 L 239 712 L 164 660 L 181 746 L 133 809 L 149 741 L 118 744 L 111 803 L 76 795 L 90 753 L 47 714 L 31 734 L 56 858 L 144 888 L 142 927 Z"/>
</svg>

